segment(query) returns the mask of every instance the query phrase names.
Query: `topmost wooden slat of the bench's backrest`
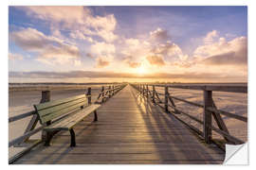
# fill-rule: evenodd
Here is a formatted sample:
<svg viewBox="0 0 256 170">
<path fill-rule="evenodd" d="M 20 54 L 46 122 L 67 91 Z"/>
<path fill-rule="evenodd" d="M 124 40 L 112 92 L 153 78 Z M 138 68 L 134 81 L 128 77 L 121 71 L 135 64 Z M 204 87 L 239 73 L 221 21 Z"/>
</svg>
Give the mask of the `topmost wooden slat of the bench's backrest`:
<svg viewBox="0 0 256 170">
<path fill-rule="evenodd" d="M 49 102 L 46 102 L 46 103 L 41 103 L 41 104 L 38 104 L 38 105 L 34 105 L 34 107 L 36 108 L 36 110 L 45 110 L 47 108 L 58 106 L 58 105 L 61 105 L 61 104 L 64 104 L 64 103 L 74 101 L 74 100 L 78 100 L 80 98 L 85 98 L 85 94 L 76 95 L 76 96 L 73 96 L 73 97 L 68 97 L 68 98 L 54 100 L 54 101 L 49 101 Z"/>
</svg>

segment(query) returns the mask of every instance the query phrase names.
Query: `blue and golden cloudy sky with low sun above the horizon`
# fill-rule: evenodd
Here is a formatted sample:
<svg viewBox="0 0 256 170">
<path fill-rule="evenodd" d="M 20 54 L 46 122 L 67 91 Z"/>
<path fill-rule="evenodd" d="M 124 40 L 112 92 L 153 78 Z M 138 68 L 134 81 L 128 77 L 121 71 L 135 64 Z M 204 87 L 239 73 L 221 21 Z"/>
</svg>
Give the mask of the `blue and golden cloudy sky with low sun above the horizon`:
<svg viewBox="0 0 256 170">
<path fill-rule="evenodd" d="M 9 7 L 9 82 L 247 82 L 247 7 Z"/>
</svg>

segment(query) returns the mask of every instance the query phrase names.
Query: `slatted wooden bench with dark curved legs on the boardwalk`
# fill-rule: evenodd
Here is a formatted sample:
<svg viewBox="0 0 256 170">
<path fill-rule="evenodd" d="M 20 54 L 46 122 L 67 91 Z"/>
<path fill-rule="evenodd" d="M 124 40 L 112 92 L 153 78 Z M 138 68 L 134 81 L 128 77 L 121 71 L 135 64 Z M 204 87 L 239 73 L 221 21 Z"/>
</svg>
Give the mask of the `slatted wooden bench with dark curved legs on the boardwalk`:
<svg viewBox="0 0 256 170">
<path fill-rule="evenodd" d="M 70 146 L 76 146 L 73 127 L 87 115 L 94 112 L 94 121 L 98 121 L 96 110 L 101 106 L 89 104 L 85 94 L 34 105 L 43 129 L 43 141 L 50 145 L 53 135 L 60 130 L 68 130 L 71 136 Z M 90 101 L 89 101 L 90 103 Z"/>
</svg>

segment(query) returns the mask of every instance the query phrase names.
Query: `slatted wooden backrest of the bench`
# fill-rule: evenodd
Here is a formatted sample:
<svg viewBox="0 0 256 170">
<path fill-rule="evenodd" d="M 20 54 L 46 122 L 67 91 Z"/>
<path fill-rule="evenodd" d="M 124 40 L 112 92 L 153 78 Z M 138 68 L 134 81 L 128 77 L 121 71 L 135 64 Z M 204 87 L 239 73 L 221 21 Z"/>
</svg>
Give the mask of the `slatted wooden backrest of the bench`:
<svg viewBox="0 0 256 170">
<path fill-rule="evenodd" d="M 87 97 L 85 94 L 82 94 L 34 105 L 34 108 L 39 116 L 40 123 L 45 124 L 68 112 L 81 110 L 86 104 Z"/>
</svg>

